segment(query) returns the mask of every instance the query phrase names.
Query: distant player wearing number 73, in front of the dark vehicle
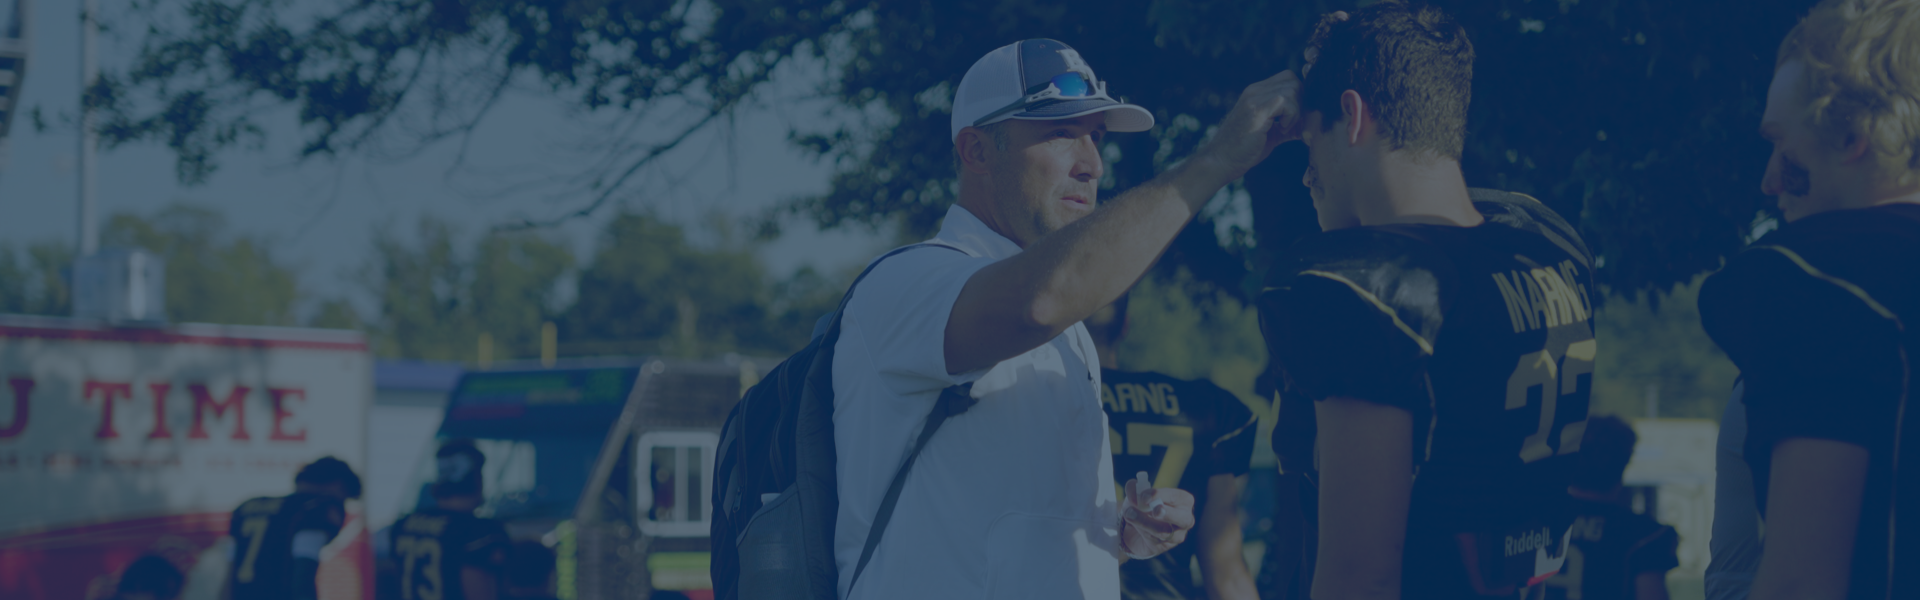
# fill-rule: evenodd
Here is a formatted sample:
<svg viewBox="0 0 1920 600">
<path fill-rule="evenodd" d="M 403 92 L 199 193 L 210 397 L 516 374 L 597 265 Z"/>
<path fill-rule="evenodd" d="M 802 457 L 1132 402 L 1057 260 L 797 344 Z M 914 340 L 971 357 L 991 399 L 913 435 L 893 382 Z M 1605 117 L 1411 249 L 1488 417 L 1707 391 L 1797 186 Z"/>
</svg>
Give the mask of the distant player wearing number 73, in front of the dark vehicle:
<svg viewBox="0 0 1920 600">
<path fill-rule="evenodd" d="M 480 467 L 486 454 L 470 440 L 434 452 L 434 506 L 394 523 L 390 548 L 399 567 L 401 600 L 497 600 L 511 538 L 484 504 Z"/>
</svg>

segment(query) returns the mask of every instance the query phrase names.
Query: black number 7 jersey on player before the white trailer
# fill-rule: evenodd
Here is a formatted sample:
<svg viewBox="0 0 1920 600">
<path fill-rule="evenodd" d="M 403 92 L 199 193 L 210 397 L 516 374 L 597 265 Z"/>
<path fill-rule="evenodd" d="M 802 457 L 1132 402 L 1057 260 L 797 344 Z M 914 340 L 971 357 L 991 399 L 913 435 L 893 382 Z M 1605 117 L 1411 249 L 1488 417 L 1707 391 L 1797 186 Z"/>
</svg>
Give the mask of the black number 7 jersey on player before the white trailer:
<svg viewBox="0 0 1920 600">
<path fill-rule="evenodd" d="M 340 535 L 346 504 L 324 494 L 253 498 L 234 510 L 227 525 L 234 538 L 228 585 L 234 600 L 315 598 L 315 585 L 294 569 L 294 535 L 321 531 L 326 540 Z"/>
</svg>

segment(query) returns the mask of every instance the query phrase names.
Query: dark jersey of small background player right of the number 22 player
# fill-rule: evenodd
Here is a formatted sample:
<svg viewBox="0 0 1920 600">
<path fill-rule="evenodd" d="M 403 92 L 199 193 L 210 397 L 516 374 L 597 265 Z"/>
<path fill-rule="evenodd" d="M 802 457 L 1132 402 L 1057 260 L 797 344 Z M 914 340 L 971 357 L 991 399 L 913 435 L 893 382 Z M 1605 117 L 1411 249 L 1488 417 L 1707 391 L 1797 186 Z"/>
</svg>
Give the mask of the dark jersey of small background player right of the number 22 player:
<svg viewBox="0 0 1920 600">
<path fill-rule="evenodd" d="M 1634 598 L 1640 573 L 1680 565 L 1680 533 L 1649 515 L 1613 504 L 1574 498 L 1572 544 L 1567 565 L 1548 579 L 1548 600 Z"/>
</svg>

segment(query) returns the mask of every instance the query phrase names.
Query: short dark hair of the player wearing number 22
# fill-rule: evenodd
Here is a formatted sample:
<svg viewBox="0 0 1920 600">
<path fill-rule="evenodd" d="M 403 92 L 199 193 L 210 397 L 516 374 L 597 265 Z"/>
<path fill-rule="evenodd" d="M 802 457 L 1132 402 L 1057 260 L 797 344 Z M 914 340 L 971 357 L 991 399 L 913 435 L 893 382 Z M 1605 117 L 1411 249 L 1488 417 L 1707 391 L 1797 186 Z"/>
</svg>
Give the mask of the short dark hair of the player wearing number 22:
<svg viewBox="0 0 1920 600">
<path fill-rule="evenodd" d="M 1313 27 L 1300 106 L 1319 112 L 1321 127 L 1340 121 L 1340 94 L 1354 90 L 1394 150 L 1459 160 L 1467 146 L 1467 102 L 1473 98 L 1473 42 L 1440 8 L 1380 2 L 1348 19 L 1321 17 Z"/>
</svg>

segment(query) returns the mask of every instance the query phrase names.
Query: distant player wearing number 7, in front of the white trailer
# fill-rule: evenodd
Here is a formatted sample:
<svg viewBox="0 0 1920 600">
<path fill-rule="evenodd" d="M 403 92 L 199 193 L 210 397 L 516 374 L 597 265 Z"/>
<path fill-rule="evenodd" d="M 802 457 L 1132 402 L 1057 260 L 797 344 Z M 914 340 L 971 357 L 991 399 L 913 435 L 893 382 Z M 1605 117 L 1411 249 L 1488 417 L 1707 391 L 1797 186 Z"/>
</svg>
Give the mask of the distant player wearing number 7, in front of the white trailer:
<svg viewBox="0 0 1920 600">
<path fill-rule="evenodd" d="M 319 598 L 315 575 L 321 548 L 346 525 L 346 500 L 359 498 L 361 481 L 338 458 L 321 458 L 294 475 L 294 494 L 253 498 L 234 510 L 234 540 L 225 598 Z"/>
</svg>

